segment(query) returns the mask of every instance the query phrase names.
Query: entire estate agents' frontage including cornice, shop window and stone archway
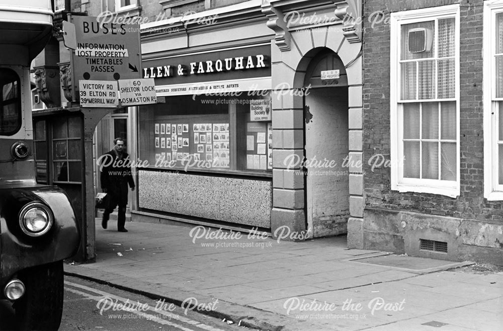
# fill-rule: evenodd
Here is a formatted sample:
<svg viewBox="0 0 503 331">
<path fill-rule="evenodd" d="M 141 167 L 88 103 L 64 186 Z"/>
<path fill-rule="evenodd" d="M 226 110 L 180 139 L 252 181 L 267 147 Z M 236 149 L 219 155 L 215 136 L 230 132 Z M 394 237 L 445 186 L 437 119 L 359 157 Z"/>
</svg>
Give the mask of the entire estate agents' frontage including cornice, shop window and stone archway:
<svg viewBox="0 0 503 331">
<path fill-rule="evenodd" d="M 148 166 L 133 220 L 348 232 L 359 246 L 361 7 L 249 1 L 142 26 L 143 77 L 164 102 L 134 115 L 133 155 Z"/>
</svg>

